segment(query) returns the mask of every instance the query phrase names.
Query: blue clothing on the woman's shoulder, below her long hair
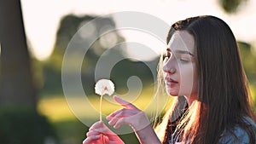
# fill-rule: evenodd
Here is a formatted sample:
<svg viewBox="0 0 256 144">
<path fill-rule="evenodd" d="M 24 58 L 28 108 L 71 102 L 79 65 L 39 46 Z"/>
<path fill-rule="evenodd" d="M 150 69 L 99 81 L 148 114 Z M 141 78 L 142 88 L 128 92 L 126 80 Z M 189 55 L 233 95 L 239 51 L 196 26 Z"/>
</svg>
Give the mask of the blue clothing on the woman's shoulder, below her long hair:
<svg viewBox="0 0 256 144">
<path fill-rule="evenodd" d="M 244 118 L 244 122 L 253 130 L 253 134 L 256 136 L 256 124 L 253 119 L 246 117 Z M 250 136 L 241 126 L 236 126 L 232 132 L 224 133 L 219 140 L 221 144 L 249 144 L 249 142 Z"/>
</svg>

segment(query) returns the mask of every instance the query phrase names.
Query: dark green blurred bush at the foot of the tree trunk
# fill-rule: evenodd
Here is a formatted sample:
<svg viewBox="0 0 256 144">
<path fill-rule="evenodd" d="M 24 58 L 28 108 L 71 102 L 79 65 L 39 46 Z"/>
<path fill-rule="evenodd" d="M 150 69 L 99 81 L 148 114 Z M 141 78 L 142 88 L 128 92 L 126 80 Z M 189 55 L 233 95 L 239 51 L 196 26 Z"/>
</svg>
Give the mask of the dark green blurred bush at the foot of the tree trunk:
<svg viewBox="0 0 256 144">
<path fill-rule="evenodd" d="M 0 139 L 6 144 L 57 142 L 46 117 L 30 107 L 0 107 Z"/>
</svg>

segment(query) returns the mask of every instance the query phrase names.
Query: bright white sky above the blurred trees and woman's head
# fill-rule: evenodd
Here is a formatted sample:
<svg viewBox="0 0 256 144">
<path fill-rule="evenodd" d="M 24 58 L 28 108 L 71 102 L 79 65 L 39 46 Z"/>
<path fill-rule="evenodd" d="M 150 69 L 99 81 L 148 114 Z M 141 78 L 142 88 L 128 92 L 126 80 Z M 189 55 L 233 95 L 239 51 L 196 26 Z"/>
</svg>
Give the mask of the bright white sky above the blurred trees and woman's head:
<svg viewBox="0 0 256 144">
<path fill-rule="evenodd" d="M 256 44 L 255 0 L 248 0 L 239 13 L 231 15 L 224 13 L 218 0 L 21 0 L 21 8 L 26 37 L 38 60 L 45 60 L 51 54 L 61 17 L 67 14 L 102 16 L 137 11 L 152 14 L 170 25 L 190 16 L 212 14 L 226 21 L 237 39 Z M 122 34 L 127 41 L 160 44 L 143 32 L 126 31 Z"/>
</svg>

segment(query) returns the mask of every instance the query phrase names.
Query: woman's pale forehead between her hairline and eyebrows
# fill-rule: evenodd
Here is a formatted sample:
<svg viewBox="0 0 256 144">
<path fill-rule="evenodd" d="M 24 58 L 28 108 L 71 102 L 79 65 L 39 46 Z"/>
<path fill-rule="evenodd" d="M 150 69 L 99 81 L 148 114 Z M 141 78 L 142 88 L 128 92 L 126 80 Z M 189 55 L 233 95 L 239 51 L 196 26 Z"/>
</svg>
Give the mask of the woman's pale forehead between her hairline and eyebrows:
<svg viewBox="0 0 256 144">
<path fill-rule="evenodd" d="M 170 39 L 168 49 L 175 50 L 186 50 L 194 54 L 195 52 L 195 40 L 194 37 L 186 31 L 174 32 Z"/>
</svg>

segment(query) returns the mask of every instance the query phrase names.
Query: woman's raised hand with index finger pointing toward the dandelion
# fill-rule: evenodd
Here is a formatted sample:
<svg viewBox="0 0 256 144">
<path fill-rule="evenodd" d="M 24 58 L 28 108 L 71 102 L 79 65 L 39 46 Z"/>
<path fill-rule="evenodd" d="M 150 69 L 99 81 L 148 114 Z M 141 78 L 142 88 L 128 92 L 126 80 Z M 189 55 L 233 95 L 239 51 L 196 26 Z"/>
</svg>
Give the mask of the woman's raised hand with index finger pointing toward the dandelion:
<svg viewBox="0 0 256 144">
<path fill-rule="evenodd" d="M 120 99 L 116 95 L 113 96 L 113 99 L 125 108 L 108 115 L 108 124 L 113 125 L 115 129 L 118 129 L 122 124 L 130 125 L 141 144 L 161 143 L 157 135 L 155 135 L 148 117 L 143 111 L 139 110 L 130 102 Z"/>
</svg>

